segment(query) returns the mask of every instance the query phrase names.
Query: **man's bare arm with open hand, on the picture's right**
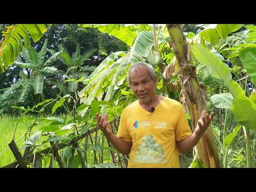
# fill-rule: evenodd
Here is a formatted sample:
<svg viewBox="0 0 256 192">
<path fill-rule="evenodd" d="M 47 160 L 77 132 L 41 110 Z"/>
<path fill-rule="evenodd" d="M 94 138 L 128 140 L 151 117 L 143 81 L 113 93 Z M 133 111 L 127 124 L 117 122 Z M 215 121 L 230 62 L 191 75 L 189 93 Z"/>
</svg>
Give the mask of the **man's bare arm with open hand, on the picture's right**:
<svg viewBox="0 0 256 192">
<path fill-rule="evenodd" d="M 186 137 L 181 141 L 177 141 L 177 146 L 181 153 L 186 153 L 190 149 L 196 146 L 199 139 L 202 137 L 206 129 L 211 124 L 212 119 L 213 119 L 213 112 L 211 113 L 210 117 L 205 110 L 202 112 L 202 115 L 198 120 L 196 129 L 193 132 L 193 134 L 191 134 L 190 136 Z"/>
</svg>

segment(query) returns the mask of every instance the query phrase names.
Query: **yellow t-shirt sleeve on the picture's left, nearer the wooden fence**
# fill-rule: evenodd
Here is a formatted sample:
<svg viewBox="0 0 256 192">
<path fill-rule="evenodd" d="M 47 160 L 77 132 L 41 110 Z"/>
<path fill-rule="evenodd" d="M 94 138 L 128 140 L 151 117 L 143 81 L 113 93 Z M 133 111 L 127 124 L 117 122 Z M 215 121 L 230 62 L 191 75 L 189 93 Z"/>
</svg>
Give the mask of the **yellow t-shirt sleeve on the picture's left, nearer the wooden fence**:
<svg viewBox="0 0 256 192">
<path fill-rule="evenodd" d="M 116 136 L 123 139 L 124 141 L 132 141 L 131 135 L 127 129 L 126 122 L 127 122 L 127 119 L 125 115 L 125 110 L 123 110 Z"/>
</svg>

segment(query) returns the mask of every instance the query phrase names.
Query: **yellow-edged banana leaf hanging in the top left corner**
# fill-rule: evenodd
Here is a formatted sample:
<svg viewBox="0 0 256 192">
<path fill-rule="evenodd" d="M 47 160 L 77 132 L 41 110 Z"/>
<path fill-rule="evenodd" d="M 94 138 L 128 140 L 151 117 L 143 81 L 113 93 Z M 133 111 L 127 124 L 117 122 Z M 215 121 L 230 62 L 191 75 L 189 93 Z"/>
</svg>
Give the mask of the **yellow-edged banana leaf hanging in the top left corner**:
<svg viewBox="0 0 256 192">
<path fill-rule="evenodd" d="M 0 42 L 0 71 L 3 73 L 23 49 L 27 50 L 31 46 L 30 37 L 37 42 L 50 26 L 50 24 L 15 24 L 5 27 Z"/>
</svg>

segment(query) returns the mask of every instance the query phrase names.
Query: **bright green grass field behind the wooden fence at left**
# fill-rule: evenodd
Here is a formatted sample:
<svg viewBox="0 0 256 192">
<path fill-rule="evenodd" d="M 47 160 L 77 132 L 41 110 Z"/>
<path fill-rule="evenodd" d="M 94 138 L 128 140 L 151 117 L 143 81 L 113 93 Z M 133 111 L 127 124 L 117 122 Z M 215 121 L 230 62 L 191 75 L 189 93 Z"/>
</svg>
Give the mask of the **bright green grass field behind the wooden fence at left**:
<svg viewBox="0 0 256 192">
<path fill-rule="evenodd" d="M 61 116 L 60 116 L 61 117 Z M 17 125 L 17 122 L 14 122 L 14 120 L 17 119 L 17 117 L 9 116 L 9 115 L 2 115 L 0 116 L 0 167 L 5 166 L 7 164 L 10 164 L 12 162 L 15 162 L 14 155 L 12 154 L 8 143 L 11 142 L 13 139 L 14 131 L 14 141 L 17 144 L 18 148 L 20 149 L 25 142 L 25 132 L 27 130 L 27 127 L 29 127 L 31 124 L 33 124 L 33 119 L 27 120 L 23 123 L 19 123 Z M 17 128 L 16 128 L 17 127 Z M 31 130 L 31 134 L 35 133 L 36 131 L 39 131 L 41 128 L 41 125 L 35 126 Z M 95 135 L 92 134 L 92 138 L 94 140 Z M 98 137 L 102 137 L 101 131 L 98 132 Z M 47 138 L 47 137 L 45 137 Z M 42 137 L 42 140 L 44 140 L 44 137 Z M 42 142 L 41 140 L 41 142 Z M 84 142 L 84 141 L 83 141 Z M 40 141 L 39 141 L 40 143 Z M 105 147 L 107 147 L 107 142 L 105 142 Z M 21 154 L 23 154 L 24 150 L 21 150 Z M 60 154 L 63 153 L 63 150 L 60 150 Z M 98 157 L 98 156 L 97 156 Z M 90 164 L 93 164 L 94 161 L 94 154 L 93 150 L 87 151 L 87 162 Z M 108 163 L 111 161 L 110 151 L 104 150 L 103 151 L 103 162 Z M 193 161 L 193 155 L 191 154 L 181 154 L 180 155 L 180 167 L 188 167 L 191 162 Z M 49 164 L 49 158 L 43 161 L 43 167 L 47 167 Z M 55 161 L 54 167 L 59 167 L 58 163 Z"/>
</svg>

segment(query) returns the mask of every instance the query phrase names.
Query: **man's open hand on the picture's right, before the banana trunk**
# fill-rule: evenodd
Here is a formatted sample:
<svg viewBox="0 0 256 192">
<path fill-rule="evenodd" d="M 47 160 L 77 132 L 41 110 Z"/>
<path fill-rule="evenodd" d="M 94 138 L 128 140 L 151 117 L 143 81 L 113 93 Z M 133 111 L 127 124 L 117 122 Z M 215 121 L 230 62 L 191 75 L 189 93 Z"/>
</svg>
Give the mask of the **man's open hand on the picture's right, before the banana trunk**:
<svg viewBox="0 0 256 192">
<path fill-rule="evenodd" d="M 209 116 L 207 114 L 206 110 L 203 110 L 203 112 L 201 114 L 201 117 L 199 118 L 199 120 L 197 122 L 196 129 L 195 129 L 196 135 L 198 135 L 199 137 L 202 137 L 202 135 L 204 134 L 205 130 L 211 124 L 212 119 L 213 119 L 213 112 Z"/>
</svg>

